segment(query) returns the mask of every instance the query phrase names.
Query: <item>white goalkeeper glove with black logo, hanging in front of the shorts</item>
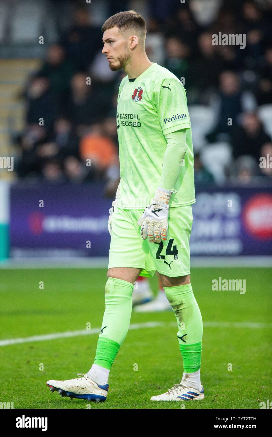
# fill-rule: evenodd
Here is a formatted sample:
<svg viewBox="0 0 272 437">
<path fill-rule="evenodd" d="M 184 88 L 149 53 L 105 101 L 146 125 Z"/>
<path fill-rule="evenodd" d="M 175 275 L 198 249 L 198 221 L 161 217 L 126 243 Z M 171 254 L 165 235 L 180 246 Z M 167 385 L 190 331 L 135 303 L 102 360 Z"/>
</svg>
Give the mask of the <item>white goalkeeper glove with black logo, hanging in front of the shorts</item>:
<svg viewBox="0 0 272 437">
<path fill-rule="evenodd" d="M 158 187 L 153 202 L 145 208 L 137 222 L 141 226 L 143 240 L 147 237 L 149 243 L 167 240 L 169 201 L 172 193 L 176 193 L 176 190 L 169 191 Z"/>
</svg>

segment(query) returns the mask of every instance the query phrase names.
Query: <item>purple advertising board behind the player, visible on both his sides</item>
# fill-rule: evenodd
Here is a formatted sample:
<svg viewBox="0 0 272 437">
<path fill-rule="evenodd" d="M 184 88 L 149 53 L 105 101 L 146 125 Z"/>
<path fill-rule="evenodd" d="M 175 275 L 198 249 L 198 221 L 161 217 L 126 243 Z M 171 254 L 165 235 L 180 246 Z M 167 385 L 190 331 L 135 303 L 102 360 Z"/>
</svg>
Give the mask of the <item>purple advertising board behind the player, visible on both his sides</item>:
<svg viewBox="0 0 272 437">
<path fill-rule="evenodd" d="M 10 193 L 11 257 L 107 257 L 103 184 L 15 184 Z M 272 255 L 272 187 L 196 190 L 192 256 Z"/>
</svg>

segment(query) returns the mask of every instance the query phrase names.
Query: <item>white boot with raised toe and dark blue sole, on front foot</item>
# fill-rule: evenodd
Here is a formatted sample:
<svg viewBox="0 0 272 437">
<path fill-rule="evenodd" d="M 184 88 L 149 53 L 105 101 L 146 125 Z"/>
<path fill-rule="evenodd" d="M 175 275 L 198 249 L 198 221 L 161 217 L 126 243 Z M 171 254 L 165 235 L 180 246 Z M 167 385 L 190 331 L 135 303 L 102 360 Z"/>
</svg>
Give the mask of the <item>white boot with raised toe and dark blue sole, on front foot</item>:
<svg viewBox="0 0 272 437">
<path fill-rule="evenodd" d="M 99 385 L 88 377 L 88 374 L 78 373 L 82 378 L 67 379 L 66 381 L 55 381 L 50 379 L 46 385 L 51 392 L 58 391 L 63 396 L 70 399 L 87 399 L 88 401 L 101 402 L 107 399 L 109 385 Z"/>
</svg>

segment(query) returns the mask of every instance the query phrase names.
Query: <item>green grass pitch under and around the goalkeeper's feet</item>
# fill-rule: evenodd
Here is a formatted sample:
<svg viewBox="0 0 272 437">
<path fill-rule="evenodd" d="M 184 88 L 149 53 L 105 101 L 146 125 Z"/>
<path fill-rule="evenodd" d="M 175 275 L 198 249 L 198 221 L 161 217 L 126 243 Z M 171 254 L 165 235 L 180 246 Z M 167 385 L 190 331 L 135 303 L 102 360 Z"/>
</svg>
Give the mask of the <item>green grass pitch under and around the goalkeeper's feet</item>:
<svg viewBox="0 0 272 437">
<path fill-rule="evenodd" d="M 0 340 L 82 330 L 86 323 L 91 329 L 100 328 L 106 272 L 1 269 Z M 212 291 L 211 281 L 218 277 L 245 279 L 246 292 Z M 260 402 L 272 400 L 272 271 L 193 268 L 191 279 L 204 324 L 201 382 L 205 399 L 185 402 L 185 408 L 259 409 Z M 156 292 L 157 276 L 150 282 Z M 132 324 L 145 322 L 162 325 L 128 332 L 110 372 L 106 402 L 61 398 L 45 385 L 48 379 L 86 373 L 93 363 L 98 334 L 1 346 L 0 402 L 35 409 L 181 408 L 180 402 L 149 400 L 179 383 L 182 376 L 176 318 L 171 311 L 132 312 Z"/>
</svg>

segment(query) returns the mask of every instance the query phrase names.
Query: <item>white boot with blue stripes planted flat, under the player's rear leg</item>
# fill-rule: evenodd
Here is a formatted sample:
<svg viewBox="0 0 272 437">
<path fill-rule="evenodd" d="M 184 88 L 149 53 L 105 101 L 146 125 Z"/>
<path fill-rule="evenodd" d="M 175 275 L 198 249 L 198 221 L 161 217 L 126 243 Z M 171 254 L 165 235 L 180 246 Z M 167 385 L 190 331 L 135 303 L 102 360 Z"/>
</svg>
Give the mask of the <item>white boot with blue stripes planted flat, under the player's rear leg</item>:
<svg viewBox="0 0 272 437">
<path fill-rule="evenodd" d="M 173 385 L 168 392 L 162 395 L 152 396 L 151 401 L 196 401 L 204 399 L 204 388 L 201 385 L 200 390 L 193 387 L 186 387 L 182 383 Z"/>
</svg>

